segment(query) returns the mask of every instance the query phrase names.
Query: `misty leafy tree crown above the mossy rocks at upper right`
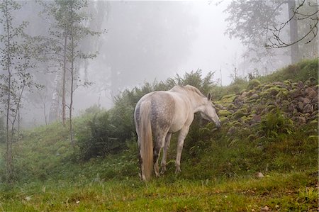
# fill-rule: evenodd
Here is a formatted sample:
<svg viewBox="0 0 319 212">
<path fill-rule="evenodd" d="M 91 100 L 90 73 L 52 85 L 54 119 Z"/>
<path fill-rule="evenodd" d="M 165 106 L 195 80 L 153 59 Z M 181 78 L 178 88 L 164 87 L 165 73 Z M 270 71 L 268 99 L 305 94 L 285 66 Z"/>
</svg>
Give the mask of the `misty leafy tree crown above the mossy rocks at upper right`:
<svg viewBox="0 0 319 212">
<path fill-rule="evenodd" d="M 315 8 L 305 3 L 306 0 L 298 1 L 232 1 L 225 10 L 230 15 L 226 19 L 228 28 L 226 34 L 230 38 L 239 38 L 244 45 L 247 45 L 249 52 L 257 52 L 255 58 L 261 58 L 265 55 L 272 57 L 274 48 L 282 48 L 291 46 L 291 62 L 300 60 L 301 55 L 298 55 L 298 43 L 308 35 L 313 35 L 313 38 L 308 39 L 308 42 L 315 42 L 316 30 L 318 26 L 318 7 Z M 284 7 L 288 8 L 289 13 L 285 13 Z M 313 7 L 314 10 L 308 15 L 301 13 L 304 8 Z M 300 17 L 300 18 L 298 18 Z M 299 35 L 297 22 L 308 21 L 306 37 Z M 284 21 L 288 20 L 288 21 Z M 303 24 L 305 24 L 303 22 Z M 289 34 L 286 34 L 286 26 L 290 26 Z M 290 39 L 290 42 L 284 41 Z M 266 48 L 265 48 L 266 47 Z M 276 50 L 278 53 L 279 50 Z M 251 54 L 250 54 L 251 55 Z M 278 60 L 274 58 L 272 62 Z"/>
</svg>

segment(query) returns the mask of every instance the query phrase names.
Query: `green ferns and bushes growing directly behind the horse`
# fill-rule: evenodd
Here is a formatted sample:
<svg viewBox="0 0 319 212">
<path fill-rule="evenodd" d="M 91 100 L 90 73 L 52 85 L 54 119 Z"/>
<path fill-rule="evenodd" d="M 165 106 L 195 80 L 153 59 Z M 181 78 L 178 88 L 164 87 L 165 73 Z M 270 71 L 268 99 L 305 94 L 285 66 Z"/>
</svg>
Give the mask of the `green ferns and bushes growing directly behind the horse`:
<svg viewBox="0 0 319 212">
<path fill-rule="evenodd" d="M 166 82 L 145 83 L 141 88 L 126 89 L 114 98 L 114 106 L 109 111 L 96 113 L 94 118 L 84 123 L 86 127 L 77 133 L 79 157 L 89 160 L 91 157 L 104 156 L 110 152 L 119 152 L 127 148 L 128 140 L 135 140 L 133 113 L 138 100 L 152 91 L 168 90 L 174 85 L 191 84 L 208 94 L 214 87 L 213 73 L 201 76 L 201 70 L 186 73 L 184 77 L 177 75 Z M 91 109 L 89 110 L 91 111 Z M 197 122 L 197 121 L 196 121 Z M 196 132 L 196 126 L 191 132 Z"/>
</svg>

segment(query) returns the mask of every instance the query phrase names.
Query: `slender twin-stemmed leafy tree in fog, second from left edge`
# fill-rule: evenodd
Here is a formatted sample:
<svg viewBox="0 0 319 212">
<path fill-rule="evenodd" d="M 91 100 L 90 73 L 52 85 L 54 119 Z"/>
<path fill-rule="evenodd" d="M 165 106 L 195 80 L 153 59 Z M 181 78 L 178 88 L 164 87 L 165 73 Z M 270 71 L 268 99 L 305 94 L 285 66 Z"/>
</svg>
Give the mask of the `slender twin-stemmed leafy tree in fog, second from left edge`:
<svg viewBox="0 0 319 212">
<path fill-rule="evenodd" d="M 86 36 L 100 35 L 84 26 L 89 16 L 86 14 L 87 2 L 85 0 L 55 0 L 50 3 L 42 2 L 45 13 L 54 19 L 50 28 L 50 38 L 47 42 L 52 46 L 53 55 L 58 57 L 62 69 L 62 123 L 66 121 L 66 107 L 69 108 L 69 140 L 74 145 L 72 128 L 72 111 L 74 91 L 77 84 L 79 67 L 82 60 L 96 57 L 96 52 L 85 53 L 81 51 L 81 43 Z M 54 60 L 55 58 L 53 58 Z M 58 80 L 58 78 L 57 78 Z M 89 82 L 84 82 L 84 86 Z M 69 89 L 67 89 L 69 85 Z M 69 105 L 66 95 L 69 91 Z"/>
</svg>

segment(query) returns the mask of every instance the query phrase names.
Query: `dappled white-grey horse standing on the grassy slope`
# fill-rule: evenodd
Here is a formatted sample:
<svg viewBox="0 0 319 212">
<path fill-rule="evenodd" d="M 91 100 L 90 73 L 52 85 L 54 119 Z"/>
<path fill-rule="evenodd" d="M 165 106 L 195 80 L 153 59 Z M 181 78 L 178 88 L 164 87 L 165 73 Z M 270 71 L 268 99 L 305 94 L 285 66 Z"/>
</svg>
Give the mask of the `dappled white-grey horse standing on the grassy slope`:
<svg viewBox="0 0 319 212">
<path fill-rule="evenodd" d="M 175 167 L 176 172 L 181 172 L 181 151 L 196 112 L 200 112 L 204 119 L 214 122 L 216 127 L 220 128 L 220 119 L 211 102 L 211 94 L 206 97 L 191 85 L 175 86 L 169 91 L 153 91 L 138 101 L 135 106 L 134 121 L 138 135 L 142 180 L 151 179 L 153 167 L 155 176 L 159 177 L 158 160 L 162 149 L 160 174 L 164 174 L 171 136 L 178 131 Z"/>
</svg>

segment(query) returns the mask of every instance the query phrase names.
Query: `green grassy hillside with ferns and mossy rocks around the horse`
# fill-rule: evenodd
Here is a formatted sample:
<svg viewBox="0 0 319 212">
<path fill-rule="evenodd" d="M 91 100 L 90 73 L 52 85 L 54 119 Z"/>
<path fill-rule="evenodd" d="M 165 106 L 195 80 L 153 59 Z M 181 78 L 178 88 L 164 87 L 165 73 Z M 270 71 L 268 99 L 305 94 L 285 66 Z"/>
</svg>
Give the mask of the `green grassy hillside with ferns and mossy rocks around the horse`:
<svg viewBox="0 0 319 212">
<path fill-rule="evenodd" d="M 0 210 L 317 211 L 318 59 L 228 87 L 208 87 L 196 74 L 182 82 L 215 96 L 223 126 L 196 116 L 181 174 L 173 136 L 167 174 L 147 184 L 138 177 L 134 103 L 172 80 L 147 84 L 125 91 L 110 111 L 92 107 L 77 118 L 75 149 L 60 123 L 24 131 L 13 146 L 13 189 L 0 159 Z"/>
</svg>

